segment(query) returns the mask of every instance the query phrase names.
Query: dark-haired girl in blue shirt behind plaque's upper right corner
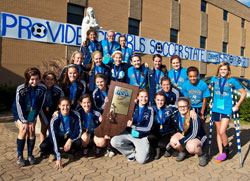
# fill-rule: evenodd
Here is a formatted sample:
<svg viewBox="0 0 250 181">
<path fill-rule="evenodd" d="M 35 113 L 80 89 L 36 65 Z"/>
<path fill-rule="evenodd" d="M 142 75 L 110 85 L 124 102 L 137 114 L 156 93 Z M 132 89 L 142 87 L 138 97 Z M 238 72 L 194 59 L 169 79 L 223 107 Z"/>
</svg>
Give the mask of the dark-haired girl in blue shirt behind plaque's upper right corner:
<svg viewBox="0 0 250 181">
<path fill-rule="evenodd" d="M 127 71 L 127 80 L 126 82 L 131 85 L 137 85 L 142 88 L 147 88 L 147 72 L 148 69 L 141 65 L 141 57 L 137 54 L 132 55 L 131 58 L 131 67 Z"/>
</svg>

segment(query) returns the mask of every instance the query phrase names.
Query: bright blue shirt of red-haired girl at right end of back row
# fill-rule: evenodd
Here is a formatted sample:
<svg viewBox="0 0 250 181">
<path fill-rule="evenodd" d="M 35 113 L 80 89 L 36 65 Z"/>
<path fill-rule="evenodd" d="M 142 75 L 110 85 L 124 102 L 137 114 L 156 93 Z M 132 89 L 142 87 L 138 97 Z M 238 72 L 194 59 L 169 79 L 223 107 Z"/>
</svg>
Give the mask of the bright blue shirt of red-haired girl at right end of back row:
<svg viewBox="0 0 250 181">
<path fill-rule="evenodd" d="M 174 69 L 171 69 L 168 72 L 168 77 L 170 78 L 171 83 L 174 85 L 174 87 L 177 87 L 181 90 L 182 84 L 188 81 L 187 69 L 181 67 L 179 72 L 176 72 Z"/>
</svg>

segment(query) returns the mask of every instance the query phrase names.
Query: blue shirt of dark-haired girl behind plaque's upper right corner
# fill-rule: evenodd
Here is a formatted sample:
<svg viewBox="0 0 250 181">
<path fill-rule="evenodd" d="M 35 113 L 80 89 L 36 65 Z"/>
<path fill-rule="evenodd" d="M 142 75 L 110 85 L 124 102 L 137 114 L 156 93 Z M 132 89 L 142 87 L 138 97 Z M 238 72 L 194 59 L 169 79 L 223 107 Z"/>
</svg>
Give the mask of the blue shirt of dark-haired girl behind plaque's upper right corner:
<svg viewBox="0 0 250 181">
<path fill-rule="evenodd" d="M 139 69 L 135 69 L 133 66 L 128 68 L 127 83 L 131 85 L 137 85 L 142 88 L 147 88 L 147 72 L 148 69 L 141 66 Z"/>
</svg>

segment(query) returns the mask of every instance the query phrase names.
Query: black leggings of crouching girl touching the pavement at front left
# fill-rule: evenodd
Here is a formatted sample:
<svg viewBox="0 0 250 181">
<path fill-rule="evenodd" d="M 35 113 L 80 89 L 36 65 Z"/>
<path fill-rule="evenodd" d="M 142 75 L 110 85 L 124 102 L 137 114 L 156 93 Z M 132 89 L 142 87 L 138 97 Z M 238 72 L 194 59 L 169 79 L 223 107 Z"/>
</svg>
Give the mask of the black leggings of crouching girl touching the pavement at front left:
<svg viewBox="0 0 250 181">
<path fill-rule="evenodd" d="M 64 137 L 58 137 L 58 145 L 59 147 L 63 147 L 65 145 L 65 143 L 67 142 L 68 139 L 64 139 Z M 75 140 L 72 145 L 70 150 L 68 151 L 68 153 L 74 154 L 76 153 L 78 150 L 80 150 L 82 147 L 82 140 L 81 138 Z M 52 140 L 50 139 L 49 136 L 47 136 L 44 141 L 40 144 L 40 149 L 42 153 L 45 154 L 53 154 L 54 150 L 53 150 L 53 143 Z"/>
</svg>

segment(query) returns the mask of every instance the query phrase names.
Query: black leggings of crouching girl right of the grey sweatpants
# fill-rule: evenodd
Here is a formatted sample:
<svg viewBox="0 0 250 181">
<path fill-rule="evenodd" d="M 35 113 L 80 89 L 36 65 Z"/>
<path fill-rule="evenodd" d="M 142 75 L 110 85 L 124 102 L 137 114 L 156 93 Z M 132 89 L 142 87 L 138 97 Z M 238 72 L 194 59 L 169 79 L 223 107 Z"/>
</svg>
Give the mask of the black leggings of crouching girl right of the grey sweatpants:
<svg viewBox="0 0 250 181">
<path fill-rule="evenodd" d="M 170 138 L 173 134 L 159 133 L 148 135 L 148 141 L 152 148 L 165 149 L 167 144 L 170 142 Z"/>
</svg>

